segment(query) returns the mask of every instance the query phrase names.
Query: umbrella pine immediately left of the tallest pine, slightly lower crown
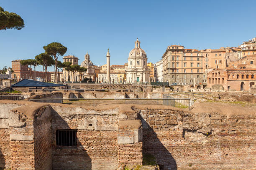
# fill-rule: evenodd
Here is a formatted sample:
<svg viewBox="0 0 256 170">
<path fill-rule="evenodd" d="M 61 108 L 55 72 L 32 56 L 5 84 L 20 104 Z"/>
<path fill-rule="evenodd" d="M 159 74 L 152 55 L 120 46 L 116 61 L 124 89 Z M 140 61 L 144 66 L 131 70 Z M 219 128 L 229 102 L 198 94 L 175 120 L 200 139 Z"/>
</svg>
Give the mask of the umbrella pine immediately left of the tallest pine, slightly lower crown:
<svg viewBox="0 0 256 170">
<path fill-rule="evenodd" d="M 44 80 L 47 82 L 48 78 L 47 78 L 47 67 L 48 66 L 52 66 L 54 65 L 54 59 L 46 53 L 41 53 L 39 55 L 36 55 L 36 60 L 38 62 L 39 65 L 43 66 L 44 69 Z"/>
</svg>

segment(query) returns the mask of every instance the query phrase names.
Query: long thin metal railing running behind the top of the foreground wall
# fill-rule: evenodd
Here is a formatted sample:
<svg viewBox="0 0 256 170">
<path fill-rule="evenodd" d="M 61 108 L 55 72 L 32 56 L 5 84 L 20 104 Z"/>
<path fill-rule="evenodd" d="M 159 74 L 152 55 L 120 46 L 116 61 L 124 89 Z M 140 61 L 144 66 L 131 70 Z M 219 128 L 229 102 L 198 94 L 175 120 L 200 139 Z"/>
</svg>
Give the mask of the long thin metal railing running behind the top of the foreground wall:
<svg viewBox="0 0 256 170">
<path fill-rule="evenodd" d="M 178 105 L 178 104 L 174 104 L 174 105 L 171 105 L 171 106 L 174 106 L 174 107 L 180 107 L 180 108 L 187 108 L 189 107 L 189 101 L 190 99 L 187 99 L 187 98 L 134 98 L 134 99 L 131 99 L 131 98 L 106 98 L 106 99 L 97 99 L 97 98 L 67 98 L 67 99 L 64 99 L 64 98 L 54 98 L 54 99 L 29 99 L 29 101 L 35 101 L 36 100 L 39 100 L 38 102 L 42 102 L 42 100 L 46 101 L 47 100 L 89 100 L 89 101 L 92 101 L 93 103 L 89 103 L 87 102 L 86 104 L 91 104 L 93 105 L 93 107 L 95 106 L 95 101 L 98 101 L 98 100 L 114 100 L 114 101 L 117 101 L 117 100 L 124 100 L 124 103 L 123 104 L 148 104 L 148 105 L 152 105 L 152 104 L 164 104 L 164 105 L 169 105 L 169 103 L 172 103 L 172 100 L 174 100 L 174 103 L 175 102 L 181 102 L 182 100 L 184 100 L 182 103 L 183 105 Z M 145 100 L 148 100 L 148 103 L 145 103 L 145 102 L 139 102 L 139 101 L 145 101 Z M 186 100 L 188 100 L 188 102 L 185 102 Z M 84 103 L 85 104 L 85 103 Z M 82 105 L 82 103 L 81 103 Z"/>
</svg>

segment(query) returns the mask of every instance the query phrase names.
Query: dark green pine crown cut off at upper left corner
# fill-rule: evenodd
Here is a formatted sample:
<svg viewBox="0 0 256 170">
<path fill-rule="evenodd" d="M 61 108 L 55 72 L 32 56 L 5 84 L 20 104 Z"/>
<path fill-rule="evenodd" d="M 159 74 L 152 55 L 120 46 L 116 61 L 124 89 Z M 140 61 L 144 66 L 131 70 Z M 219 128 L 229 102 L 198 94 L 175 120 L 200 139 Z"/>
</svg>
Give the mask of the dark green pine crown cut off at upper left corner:
<svg viewBox="0 0 256 170">
<path fill-rule="evenodd" d="M 16 13 L 9 13 L 0 7 L 0 30 L 17 29 L 24 27 L 24 21 L 20 15 Z"/>
</svg>

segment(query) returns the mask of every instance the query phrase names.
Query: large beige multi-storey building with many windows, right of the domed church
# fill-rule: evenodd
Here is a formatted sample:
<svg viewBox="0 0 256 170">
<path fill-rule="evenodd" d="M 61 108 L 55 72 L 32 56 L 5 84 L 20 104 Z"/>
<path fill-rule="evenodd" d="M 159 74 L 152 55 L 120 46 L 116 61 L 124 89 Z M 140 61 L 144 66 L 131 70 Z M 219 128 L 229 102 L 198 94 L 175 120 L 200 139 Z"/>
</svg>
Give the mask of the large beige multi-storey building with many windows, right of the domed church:
<svg viewBox="0 0 256 170">
<path fill-rule="evenodd" d="M 184 49 L 181 45 L 167 47 L 163 60 L 163 82 L 179 85 L 206 85 L 204 53 L 195 49 Z"/>
</svg>

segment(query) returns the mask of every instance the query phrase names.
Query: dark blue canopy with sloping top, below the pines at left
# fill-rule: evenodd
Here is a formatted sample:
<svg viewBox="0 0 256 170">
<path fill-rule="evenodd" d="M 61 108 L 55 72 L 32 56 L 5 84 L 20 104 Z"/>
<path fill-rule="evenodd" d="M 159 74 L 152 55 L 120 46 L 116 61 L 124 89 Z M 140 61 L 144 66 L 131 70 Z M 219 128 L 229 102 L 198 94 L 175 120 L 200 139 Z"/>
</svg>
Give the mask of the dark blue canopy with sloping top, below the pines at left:
<svg viewBox="0 0 256 170">
<path fill-rule="evenodd" d="M 17 82 L 14 85 L 12 85 L 12 87 L 58 87 L 58 86 L 64 86 L 64 85 L 54 84 L 49 82 L 39 82 L 39 81 L 28 80 L 28 79 L 21 80 L 20 82 Z"/>
</svg>

